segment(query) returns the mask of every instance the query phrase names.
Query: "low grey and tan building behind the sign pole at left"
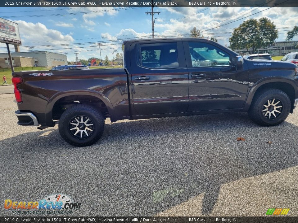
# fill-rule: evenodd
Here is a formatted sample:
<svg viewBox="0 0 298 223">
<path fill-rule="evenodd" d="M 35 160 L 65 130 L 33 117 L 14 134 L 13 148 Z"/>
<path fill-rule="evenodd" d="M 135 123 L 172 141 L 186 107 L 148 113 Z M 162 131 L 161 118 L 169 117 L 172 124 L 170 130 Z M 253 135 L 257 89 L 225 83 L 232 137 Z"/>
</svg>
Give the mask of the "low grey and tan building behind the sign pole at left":
<svg viewBox="0 0 298 223">
<path fill-rule="evenodd" d="M 50 68 L 57 65 L 67 65 L 66 55 L 49 51 L 13 52 L 11 57 L 13 59 L 12 63 L 16 67 L 30 67 L 35 64 L 37 67 Z M 0 66 L 10 67 L 8 53 L 0 53 Z"/>
</svg>

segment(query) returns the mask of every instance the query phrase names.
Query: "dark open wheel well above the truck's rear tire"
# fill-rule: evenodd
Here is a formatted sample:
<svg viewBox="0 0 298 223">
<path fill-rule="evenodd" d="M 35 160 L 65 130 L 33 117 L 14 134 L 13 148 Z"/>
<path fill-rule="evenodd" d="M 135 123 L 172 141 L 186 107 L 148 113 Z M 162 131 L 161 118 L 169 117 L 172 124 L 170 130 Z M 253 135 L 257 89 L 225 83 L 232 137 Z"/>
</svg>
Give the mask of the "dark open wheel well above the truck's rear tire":
<svg viewBox="0 0 298 223">
<path fill-rule="evenodd" d="M 99 98 L 89 95 L 71 95 L 65 96 L 56 101 L 52 109 L 52 119 L 59 120 L 62 113 L 65 112 L 67 108 L 75 104 L 92 104 L 92 106 L 102 112 L 105 118 L 109 117 L 106 104 Z"/>
</svg>

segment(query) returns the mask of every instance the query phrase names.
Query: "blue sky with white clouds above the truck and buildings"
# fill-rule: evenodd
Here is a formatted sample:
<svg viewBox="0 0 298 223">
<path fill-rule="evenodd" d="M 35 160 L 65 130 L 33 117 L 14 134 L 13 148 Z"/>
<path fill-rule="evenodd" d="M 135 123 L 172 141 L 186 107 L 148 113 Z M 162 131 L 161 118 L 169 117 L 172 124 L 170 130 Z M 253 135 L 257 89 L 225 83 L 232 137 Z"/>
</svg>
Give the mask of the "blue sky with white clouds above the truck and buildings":
<svg viewBox="0 0 298 223">
<path fill-rule="evenodd" d="M 150 11 L 151 7 L 0 7 L 0 17 L 19 24 L 21 51 L 33 46 L 33 50 L 67 52 L 68 61 L 74 61 L 75 53 L 79 59 L 100 58 L 97 43 L 102 44 L 102 59 L 106 55 L 112 59 L 114 50 L 122 52 L 124 40 L 150 38 L 151 15 L 145 14 Z M 279 31 L 276 41 L 285 41 L 287 31 L 298 25 L 298 7 L 154 7 L 154 11 L 160 12 L 154 15 L 156 37 L 187 37 L 196 26 L 205 38 L 216 37 L 224 46 L 229 46 L 233 28 L 250 18 L 272 20 Z M 0 52 L 7 52 L 5 44 L 0 43 Z"/>
</svg>

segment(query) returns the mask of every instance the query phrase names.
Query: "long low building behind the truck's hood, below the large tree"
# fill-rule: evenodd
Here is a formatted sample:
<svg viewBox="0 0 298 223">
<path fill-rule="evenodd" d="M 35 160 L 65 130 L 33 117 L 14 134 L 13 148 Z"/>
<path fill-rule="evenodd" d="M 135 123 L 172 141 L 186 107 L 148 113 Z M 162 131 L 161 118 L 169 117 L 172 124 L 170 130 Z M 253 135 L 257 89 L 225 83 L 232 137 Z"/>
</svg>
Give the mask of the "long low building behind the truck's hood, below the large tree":
<svg viewBox="0 0 298 223">
<path fill-rule="evenodd" d="M 255 54 L 269 53 L 271 56 L 284 56 L 288 53 L 298 51 L 297 45 L 298 40 L 274 42 L 267 47 L 257 49 Z M 234 51 L 240 55 L 252 54 L 252 52 L 247 52 L 246 49 L 236 49 Z"/>
</svg>

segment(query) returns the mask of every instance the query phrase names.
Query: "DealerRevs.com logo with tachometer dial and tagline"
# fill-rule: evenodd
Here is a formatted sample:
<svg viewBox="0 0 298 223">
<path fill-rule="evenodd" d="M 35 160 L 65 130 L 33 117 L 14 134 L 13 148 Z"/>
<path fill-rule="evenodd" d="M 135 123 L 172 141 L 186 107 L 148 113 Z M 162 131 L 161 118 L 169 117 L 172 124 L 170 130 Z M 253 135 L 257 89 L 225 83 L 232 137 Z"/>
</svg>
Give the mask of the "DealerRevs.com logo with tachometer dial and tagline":
<svg viewBox="0 0 298 223">
<path fill-rule="evenodd" d="M 13 201 L 6 199 L 4 208 L 12 214 L 72 214 L 81 208 L 81 203 L 73 202 L 72 198 L 63 194 L 52 194 L 36 201 Z"/>
</svg>

